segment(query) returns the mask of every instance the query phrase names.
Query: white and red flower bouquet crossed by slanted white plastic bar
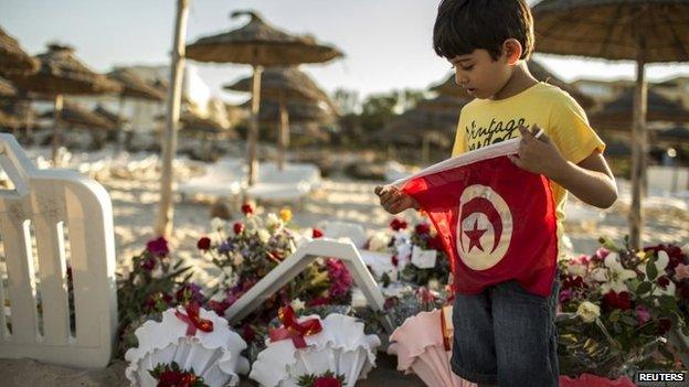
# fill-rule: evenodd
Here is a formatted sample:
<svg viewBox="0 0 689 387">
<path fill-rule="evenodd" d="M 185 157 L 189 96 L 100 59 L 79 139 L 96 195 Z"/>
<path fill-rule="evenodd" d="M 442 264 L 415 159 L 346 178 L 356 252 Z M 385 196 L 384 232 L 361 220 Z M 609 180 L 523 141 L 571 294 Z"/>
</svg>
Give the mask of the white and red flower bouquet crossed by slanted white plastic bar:
<svg viewBox="0 0 689 387">
<path fill-rule="evenodd" d="M 242 206 L 243 219 L 234 223 L 231 230 L 215 223 L 215 235 L 203 237 L 197 247 L 209 255 L 220 268 L 219 283 L 210 290 L 214 297 L 209 308 L 223 314 L 240 297 L 247 292 L 265 275 L 289 257 L 303 236 L 292 229 L 292 212 L 265 217 L 254 214 L 250 204 Z M 314 229 L 310 237 L 322 234 Z M 277 314 L 279 307 L 300 299 L 308 305 L 349 303 L 352 277 L 338 259 L 318 258 L 292 282 L 267 299 L 263 308 L 244 320 L 244 338 L 247 342 L 262 338 L 262 327 Z M 259 340 L 261 341 L 261 340 Z"/>
</svg>

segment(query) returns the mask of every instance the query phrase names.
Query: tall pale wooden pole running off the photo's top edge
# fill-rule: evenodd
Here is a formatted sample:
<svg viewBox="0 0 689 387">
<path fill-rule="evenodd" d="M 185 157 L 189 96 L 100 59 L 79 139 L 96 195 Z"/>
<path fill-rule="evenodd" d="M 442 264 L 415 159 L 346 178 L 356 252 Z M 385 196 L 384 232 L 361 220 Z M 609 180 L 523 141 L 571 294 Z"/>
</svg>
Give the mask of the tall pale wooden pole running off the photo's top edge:
<svg viewBox="0 0 689 387">
<path fill-rule="evenodd" d="M 162 174 L 160 178 L 160 207 L 156 234 L 169 237 L 172 233 L 172 160 L 177 153 L 177 126 L 182 99 L 182 77 L 184 75 L 184 46 L 189 0 L 177 1 L 177 22 L 174 23 L 174 45 L 170 65 L 170 89 L 168 90 L 168 110 L 166 114 L 165 138 L 162 142 Z"/>
</svg>

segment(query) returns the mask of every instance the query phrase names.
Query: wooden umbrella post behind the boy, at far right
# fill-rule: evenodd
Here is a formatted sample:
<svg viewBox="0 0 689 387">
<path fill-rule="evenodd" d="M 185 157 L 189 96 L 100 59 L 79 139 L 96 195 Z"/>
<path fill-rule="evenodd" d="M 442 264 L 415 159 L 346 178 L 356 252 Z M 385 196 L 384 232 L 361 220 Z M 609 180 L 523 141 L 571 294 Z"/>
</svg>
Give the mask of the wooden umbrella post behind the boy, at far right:
<svg viewBox="0 0 689 387">
<path fill-rule="evenodd" d="M 643 46 L 643 45 L 642 45 Z M 632 207 L 629 208 L 629 243 L 632 248 L 642 247 L 644 233 L 643 187 L 645 183 L 648 141 L 646 140 L 647 85 L 644 50 L 636 61 L 636 93 L 634 95 L 634 127 L 632 130 Z"/>
</svg>

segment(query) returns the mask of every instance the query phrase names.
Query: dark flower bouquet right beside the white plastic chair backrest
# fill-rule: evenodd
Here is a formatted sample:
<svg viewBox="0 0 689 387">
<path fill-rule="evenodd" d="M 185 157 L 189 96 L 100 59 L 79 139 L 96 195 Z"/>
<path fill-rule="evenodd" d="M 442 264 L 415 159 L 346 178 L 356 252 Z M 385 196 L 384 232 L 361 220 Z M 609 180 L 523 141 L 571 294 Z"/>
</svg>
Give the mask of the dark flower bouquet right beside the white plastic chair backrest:
<svg viewBox="0 0 689 387">
<path fill-rule="evenodd" d="M 150 318 L 190 297 L 203 298 L 200 288 L 186 284 L 191 267 L 172 262 L 168 241 L 163 237 L 149 240 L 146 249 L 132 258 L 128 276 L 117 278 L 119 354 L 136 345 L 134 331 Z M 201 301 L 202 302 L 202 301 Z"/>
</svg>

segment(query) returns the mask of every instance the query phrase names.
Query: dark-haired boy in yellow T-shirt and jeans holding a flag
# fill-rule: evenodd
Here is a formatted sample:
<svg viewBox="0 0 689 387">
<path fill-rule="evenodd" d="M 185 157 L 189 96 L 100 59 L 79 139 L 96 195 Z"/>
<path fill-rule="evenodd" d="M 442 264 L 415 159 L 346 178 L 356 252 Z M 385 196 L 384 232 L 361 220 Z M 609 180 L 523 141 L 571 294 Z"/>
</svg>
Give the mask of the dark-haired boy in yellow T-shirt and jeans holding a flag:
<svg viewBox="0 0 689 387">
<path fill-rule="evenodd" d="M 568 191 L 601 208 L 615 202 L 605 144 L 583 109 L 527 68 L 533 22 L 526 0 L 443 0 L 433 43 L 455 68 L 455 83 L 475 97 L 462 109 L 453 157 L 521 137 L 518 154 L 509 158 L 550 180 L 559 246 Z M 378 186 L 375 193 L 391 214 L 420 207 L 393 186 Z M 508 280 L 478 294 L 456 293 L 453 370 L 479 386 L 558 386 L 558 288 L 553 278 L 551 294 L 542 297 Z"/>
</svg>

